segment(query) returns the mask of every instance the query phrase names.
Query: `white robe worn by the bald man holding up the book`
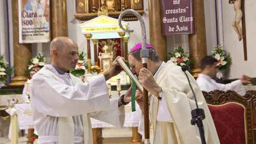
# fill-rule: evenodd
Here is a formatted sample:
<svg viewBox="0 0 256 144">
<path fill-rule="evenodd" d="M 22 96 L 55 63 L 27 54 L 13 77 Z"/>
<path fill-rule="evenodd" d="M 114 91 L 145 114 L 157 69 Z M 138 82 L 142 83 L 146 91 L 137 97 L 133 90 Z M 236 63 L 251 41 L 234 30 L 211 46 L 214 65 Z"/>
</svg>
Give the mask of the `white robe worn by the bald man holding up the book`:
<svg viewBox="0 0 256 144">
<path fill-rule="evenodd" d="M 70 73 L 45 65 L 31 80 L 31 106 L 40 144 L 93 144 L 90 117 L 116 127 L 124 106 L 109 99 L 104 76 L 83 83 Z"/>
</svg>

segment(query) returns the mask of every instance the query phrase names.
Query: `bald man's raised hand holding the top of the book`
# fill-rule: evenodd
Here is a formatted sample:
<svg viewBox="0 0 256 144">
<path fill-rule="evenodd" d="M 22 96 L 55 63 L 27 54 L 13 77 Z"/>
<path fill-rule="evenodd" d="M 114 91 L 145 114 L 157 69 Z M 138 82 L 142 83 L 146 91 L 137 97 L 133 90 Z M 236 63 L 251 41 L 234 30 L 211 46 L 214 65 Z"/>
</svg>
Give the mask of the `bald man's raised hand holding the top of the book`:
<svg viewBox="0 0 256 144">
<path fill-rule="evenodd" d="M 109 70 L 104 73 L 104 77 L 105 77 L 106 81 L 108 79 L 110 79 L 111 77 L 114 77 L 115 75 L 119 74 L 123 70 L 122 67 L 119 65 L 119 63 L 117 62 L 118 58 L 122 58 L 125 61 L 125 59 L 120 56 L 115 58 L 115 60 L 111 64 Z"/>
</svg>

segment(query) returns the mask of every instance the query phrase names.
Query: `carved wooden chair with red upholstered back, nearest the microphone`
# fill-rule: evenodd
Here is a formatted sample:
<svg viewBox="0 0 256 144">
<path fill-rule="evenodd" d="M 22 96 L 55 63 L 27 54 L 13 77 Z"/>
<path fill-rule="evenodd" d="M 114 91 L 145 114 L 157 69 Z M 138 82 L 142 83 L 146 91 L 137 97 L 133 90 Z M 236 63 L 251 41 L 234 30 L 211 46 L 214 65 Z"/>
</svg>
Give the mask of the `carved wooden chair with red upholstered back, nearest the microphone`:
<svg viewBox="0 0 256 144">
<path fill-rule="evenodd" d="M 234 91 L 204 92 L 221 144 L 253 144 L 252 110 L 256 97 Z"/>
</svg>

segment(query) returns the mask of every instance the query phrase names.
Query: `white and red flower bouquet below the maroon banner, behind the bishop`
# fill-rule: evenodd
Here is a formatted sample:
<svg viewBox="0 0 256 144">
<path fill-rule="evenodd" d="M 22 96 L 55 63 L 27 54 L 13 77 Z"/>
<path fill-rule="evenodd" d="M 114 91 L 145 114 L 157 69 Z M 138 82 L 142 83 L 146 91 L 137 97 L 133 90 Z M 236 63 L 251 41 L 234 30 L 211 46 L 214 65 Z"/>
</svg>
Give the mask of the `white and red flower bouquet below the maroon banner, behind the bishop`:
<svg viewBox="0 0 256 144">
<path fill-rule="evenodd" d="M 175 65 L 186 65 L 190 67 L 191 61 L 189 60 L 187 55 L 188 53 L 184 52 L 183 47 L 178 46 L 172 52 L 169 53 L 169 58 Z"/>
</svg>

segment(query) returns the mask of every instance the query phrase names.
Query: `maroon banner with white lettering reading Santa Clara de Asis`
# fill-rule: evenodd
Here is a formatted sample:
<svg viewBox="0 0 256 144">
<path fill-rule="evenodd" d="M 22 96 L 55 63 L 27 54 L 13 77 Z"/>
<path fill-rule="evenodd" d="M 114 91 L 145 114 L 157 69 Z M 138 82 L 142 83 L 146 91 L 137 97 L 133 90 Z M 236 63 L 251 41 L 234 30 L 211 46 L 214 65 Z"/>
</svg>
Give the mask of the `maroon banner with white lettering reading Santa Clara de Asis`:
<svg viewBox="0 0 256 144">
<path fill-rule="evenodd" d="M 194 33 L 193 0 L 161 0 L 162 33 Z"/>
</svg>

